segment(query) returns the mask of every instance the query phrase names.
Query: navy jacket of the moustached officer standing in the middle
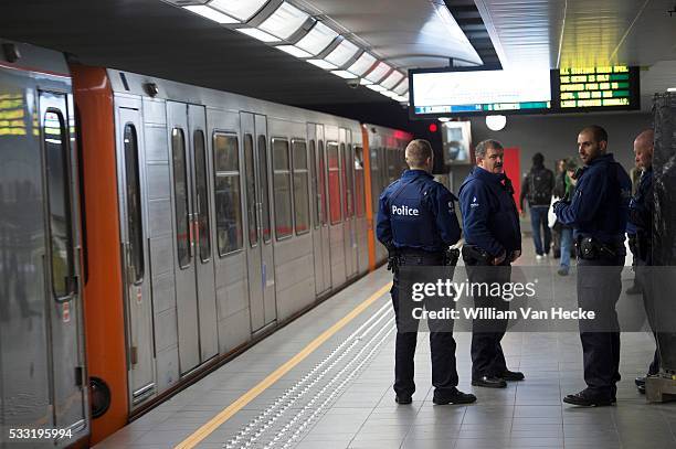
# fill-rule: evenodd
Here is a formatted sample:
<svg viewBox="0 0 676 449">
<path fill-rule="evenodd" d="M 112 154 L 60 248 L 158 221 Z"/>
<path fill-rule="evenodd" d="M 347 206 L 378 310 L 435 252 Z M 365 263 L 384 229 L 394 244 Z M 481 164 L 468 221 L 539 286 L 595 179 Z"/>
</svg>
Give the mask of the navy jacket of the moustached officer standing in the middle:
<svg viewBox="0 0 676 449">
<path fill-rule="evenodd" d="M 521 249 L 519 214 L 505 173 L 475 167 L 460 189 L 465 242 L 492 256 Z"/>
</svg>

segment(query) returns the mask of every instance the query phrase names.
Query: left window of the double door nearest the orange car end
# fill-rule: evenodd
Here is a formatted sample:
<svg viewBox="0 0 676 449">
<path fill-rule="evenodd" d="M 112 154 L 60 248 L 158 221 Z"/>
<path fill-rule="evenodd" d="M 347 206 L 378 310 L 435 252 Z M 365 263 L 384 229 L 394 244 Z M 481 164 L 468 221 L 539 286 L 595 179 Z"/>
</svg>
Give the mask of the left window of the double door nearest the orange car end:
<svg viewBox="0 0 676 449">
<path fill-rule="evenodd" d="M 190 265 L 190 215 L 188 211 L 188 172 L 186 162 L 186 136 L 181 128 L 171 130 L 173 159 L 173 199 L 176 204 L 176 244 L 179 267 Z"/>
</svg>

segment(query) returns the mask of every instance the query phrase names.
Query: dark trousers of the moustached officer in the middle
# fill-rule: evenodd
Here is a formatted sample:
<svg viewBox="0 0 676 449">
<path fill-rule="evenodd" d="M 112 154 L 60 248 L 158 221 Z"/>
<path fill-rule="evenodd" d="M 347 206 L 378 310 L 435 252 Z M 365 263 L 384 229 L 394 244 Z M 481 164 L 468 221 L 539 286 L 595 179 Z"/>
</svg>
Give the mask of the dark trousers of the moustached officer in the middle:
<svg viewBox="0 0 676 449">
<path fill-rule="evenodd" d="M 467 264 L 467 260 L 465 260 Z M 474 289 L 474 307 L 480 309 L 509 310 L 509 302 L 499 296 L 490 296 L 493 282 L 509 282 L 511 266 L 467 265 L 467 278 Z M 488 286 L 488 289 L 482 286 Z M 488 290 L 488 291 L 486 291 Z M 475 319 L 472 323 L 472 378 L 499 376 L 507 371 L 500 341 L 507 331 L 507 321 L 500 319 Z"/>
</svg>

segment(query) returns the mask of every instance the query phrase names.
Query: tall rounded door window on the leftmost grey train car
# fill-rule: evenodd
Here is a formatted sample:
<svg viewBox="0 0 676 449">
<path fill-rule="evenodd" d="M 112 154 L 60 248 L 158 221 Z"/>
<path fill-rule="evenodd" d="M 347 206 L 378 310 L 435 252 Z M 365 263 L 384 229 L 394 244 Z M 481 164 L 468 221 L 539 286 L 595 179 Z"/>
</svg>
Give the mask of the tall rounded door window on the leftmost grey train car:
<svg viewBox="0 0 676 449">
<path fill-rule="evenodd" d="M 65 121 L 59 109 L 44 115 L 44 152 L 50 207 L 50 246 L 52 256 L 52 290 L 54 297 L 75 293 L 70 280 L 75 275 L 71 216 L 71 177 Z"/>
</svg>

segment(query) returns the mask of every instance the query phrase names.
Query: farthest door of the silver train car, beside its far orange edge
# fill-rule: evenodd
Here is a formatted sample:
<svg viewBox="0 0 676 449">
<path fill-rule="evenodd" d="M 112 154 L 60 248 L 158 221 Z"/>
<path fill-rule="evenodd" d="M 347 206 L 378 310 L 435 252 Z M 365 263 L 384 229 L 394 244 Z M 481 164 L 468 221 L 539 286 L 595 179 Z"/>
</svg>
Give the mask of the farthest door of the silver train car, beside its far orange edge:
<svg viewBox="0 0 676 449">
<path fill-rule="evenodd" d="M 352 135 L 349 129 L 340 128 L 340 173 L 342 181 L 342 216 L 345 246 L 345 274 L 349 279 L 357 274 L 357 223 L 355 220 L 355 164 L 352 158 Z"/>
</svg>

